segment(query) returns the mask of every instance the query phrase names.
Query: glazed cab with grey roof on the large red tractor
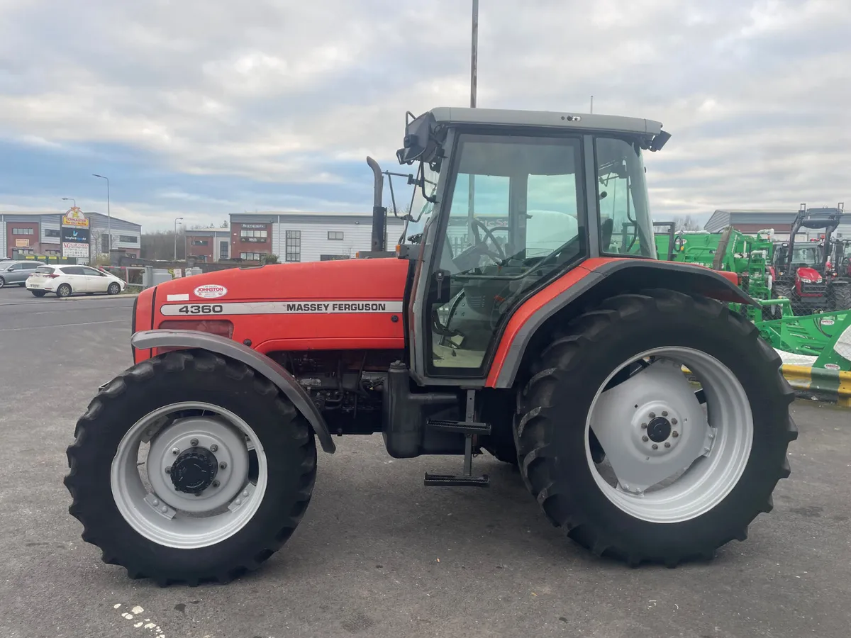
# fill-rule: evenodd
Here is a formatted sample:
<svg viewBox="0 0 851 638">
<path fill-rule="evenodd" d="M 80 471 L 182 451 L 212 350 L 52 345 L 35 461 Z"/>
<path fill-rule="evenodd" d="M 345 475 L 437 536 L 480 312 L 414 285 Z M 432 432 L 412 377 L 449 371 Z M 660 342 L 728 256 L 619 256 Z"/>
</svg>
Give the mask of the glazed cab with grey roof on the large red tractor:
<svg viewBox="0 0 851 638">
<path fill-rule="evenodd" d="M 643 151 L 669 137 L 659 122 L 629 117 L 409 115 L 397 158 L 416 167 L 415 378 L 482 383 L 505 323 L 548 282 L 585 259 L 655 259 Z"/>
</svg>

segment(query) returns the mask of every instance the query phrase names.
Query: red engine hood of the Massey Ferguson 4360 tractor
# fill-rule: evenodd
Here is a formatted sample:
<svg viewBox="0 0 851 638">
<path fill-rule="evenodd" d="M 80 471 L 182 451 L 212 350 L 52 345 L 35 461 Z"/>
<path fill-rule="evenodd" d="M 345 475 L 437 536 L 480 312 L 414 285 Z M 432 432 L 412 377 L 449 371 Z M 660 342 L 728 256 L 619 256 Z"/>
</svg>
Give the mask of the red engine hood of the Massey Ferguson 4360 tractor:
<svg viewBox="0 0 851 638">
<path fill-rule="evenodd" d="M 189 329 L 255 350 L 403 349 L 407 259 L 232 268 L 140 294 L 134 331 Z"/>
</svg>

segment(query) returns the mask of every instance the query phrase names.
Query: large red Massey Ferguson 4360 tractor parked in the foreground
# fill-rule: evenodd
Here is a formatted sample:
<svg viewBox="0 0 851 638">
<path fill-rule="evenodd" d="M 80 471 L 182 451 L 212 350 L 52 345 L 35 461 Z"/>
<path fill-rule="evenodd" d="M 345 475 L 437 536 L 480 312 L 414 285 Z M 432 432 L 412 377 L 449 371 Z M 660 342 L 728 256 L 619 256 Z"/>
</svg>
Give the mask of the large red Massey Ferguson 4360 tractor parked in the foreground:
<svg viewBox="0 0 851 638">
<path fill-rule="evenodd" d="M 317 446 L 380 432 L 396 459 L 461 458 L 426 486 L 487 487 L 483 451 L 516 464 L 553 525 L 633 567 L 744 540 L 789 476 L 793 393 L 725 305 L 752 299 L 724 273 L 655 259 L 643 152 L 670 137 L 629 117 L 408 114 L 398 246 L 369 160 L 359 259 L 141 293 L 134 366 L 100 387 L 68 448 L 83 539 L 130 578 L 225 582 L 294 532 Z"/>
</svg>

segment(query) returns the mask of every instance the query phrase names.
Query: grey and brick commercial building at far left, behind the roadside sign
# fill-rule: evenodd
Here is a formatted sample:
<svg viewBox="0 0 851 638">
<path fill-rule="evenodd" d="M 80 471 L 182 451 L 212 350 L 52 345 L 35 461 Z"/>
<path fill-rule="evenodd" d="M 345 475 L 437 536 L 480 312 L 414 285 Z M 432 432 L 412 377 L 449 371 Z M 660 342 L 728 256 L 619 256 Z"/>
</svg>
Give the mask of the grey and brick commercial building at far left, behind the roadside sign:
<svg viewBox="0 0 851 638">
<path fill-rule="evenodd" d="M 89 219 L 89 259 L 109 252 L 109 232 L 112 249 L 138 257 L 142 227 L 139 224 L 100 213 L 82 214 Z M 62 216 L 64 213 L 4 213 L 0 212 L 0 247 L 3 255 L 60 257 L 62 256 Z M 87 259 L 79 259 L 81 262 Z"/>
</svg>

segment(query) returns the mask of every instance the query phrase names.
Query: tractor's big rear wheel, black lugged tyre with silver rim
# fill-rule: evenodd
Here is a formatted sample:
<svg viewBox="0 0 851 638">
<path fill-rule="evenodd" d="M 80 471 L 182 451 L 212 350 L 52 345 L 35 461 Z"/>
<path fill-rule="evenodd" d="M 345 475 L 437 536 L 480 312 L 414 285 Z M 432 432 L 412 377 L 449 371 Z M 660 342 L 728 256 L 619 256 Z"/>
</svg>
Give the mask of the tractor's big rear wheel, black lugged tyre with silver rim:
<svg viewBox="0 0 851 638">
<path fill-rule="evenodd" d="M 727 307 L 619 295 L 570 322 L 530 371 L 515 422 L 521 474 L 546 516 L 597 555 L 710 558 L 772 509 L 797 438 L 793 398 L 780 357 Z"/>
</svg>

